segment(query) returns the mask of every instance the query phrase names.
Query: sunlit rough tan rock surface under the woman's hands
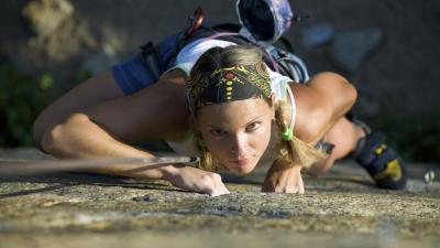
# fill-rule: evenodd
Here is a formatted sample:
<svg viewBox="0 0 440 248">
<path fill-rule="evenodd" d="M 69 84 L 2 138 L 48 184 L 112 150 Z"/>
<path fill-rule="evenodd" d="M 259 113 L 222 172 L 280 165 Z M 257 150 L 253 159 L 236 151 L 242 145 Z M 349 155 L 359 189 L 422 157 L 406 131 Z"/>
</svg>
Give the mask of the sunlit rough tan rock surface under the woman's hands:
<svg viewBox="0 0 440 248">
<path fill-rule="evenodd" d="M 3 150 L 0 158 L 45 157 Z M 343 162 L 321 179 L 306 176 L 306 193 L 293 195 L 261 193 L 260 168 L 223 174 L 231 194 L 219 197 L 84 173 L 2 176 L 0 247 L 436 247 L 440 185 L 424 183 L 425 171 L 410 166 L 407 190 L 393 192 Z"/>
</svg>

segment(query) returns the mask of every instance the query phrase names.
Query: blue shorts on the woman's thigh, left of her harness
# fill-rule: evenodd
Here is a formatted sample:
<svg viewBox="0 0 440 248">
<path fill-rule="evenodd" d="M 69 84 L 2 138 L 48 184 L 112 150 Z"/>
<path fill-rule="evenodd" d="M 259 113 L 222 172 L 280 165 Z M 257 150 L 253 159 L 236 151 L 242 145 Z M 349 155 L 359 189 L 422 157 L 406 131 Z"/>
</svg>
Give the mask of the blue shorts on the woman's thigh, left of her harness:
<svg viewBox="0 0 440 248">
<path fill-rule="evenodd" d="M 174 65 L 174 62 L 168 63 L 164 58 L 169 57 L 169 54 L 176 51 L 180 36 L 182 33 L 167 36 L 155 46 L 158 68 L 162 68 L 161 74 Z M 143 62 L 142 56 L 143 52 L 111 67 L 114 80 L 125 95 L 134 94 L 158 80 L 157 76 L 152 74 L 151 68 Z"/>
</svg>

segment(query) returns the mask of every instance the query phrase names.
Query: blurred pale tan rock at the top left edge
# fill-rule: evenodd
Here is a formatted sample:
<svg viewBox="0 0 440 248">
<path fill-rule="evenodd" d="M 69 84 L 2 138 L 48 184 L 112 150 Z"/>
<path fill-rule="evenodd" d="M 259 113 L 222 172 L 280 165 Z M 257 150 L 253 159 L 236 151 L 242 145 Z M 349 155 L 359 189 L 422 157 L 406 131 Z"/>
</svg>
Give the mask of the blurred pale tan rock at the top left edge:
<svg viewBox="0 0 440 248">
<path fill-rule="evenodd" d="M 50 35 L 73 13 L 74 6 L 68 0 L 34 0 L 22 11 L 36 36 Z"/>
</svg>

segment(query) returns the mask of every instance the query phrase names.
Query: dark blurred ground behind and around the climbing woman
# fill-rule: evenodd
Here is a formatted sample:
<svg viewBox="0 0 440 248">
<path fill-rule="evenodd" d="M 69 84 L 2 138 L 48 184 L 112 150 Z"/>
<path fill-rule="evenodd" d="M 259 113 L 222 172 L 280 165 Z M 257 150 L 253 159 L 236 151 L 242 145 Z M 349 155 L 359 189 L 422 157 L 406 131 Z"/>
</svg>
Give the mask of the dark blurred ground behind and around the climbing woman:
<svg viewBox="0 0 440 248">
<path fill-rule="evenodd" d="M 238 22 L 235 0 L 2 0 L 0 148 L 33 145 L 32 123 L 63 93 L 187 26 Z M 290 0 L 309 14 L 285 34 L 310 74 L 359 90 L 353 112 L 409 161 L 440 161 L 440 1 Z"/>
</svg>

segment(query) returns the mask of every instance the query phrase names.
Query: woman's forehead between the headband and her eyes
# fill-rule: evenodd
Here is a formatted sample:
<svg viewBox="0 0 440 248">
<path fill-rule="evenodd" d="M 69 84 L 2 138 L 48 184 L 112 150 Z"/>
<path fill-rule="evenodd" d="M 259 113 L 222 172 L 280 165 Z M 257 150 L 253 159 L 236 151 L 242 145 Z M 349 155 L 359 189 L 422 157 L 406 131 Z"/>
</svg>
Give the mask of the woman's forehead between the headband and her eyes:
<svg viewBox="0 0 440 248">
<path fill-rule="evenodd" d="M 261 98 L 212 104 L 197 111 L 197 119 L 205 125 L 245 125 L 250 120 L 270 114 L 268 104 Z"/>
</svg>

